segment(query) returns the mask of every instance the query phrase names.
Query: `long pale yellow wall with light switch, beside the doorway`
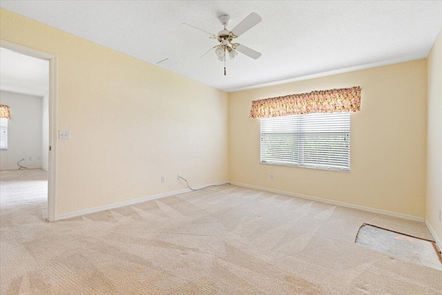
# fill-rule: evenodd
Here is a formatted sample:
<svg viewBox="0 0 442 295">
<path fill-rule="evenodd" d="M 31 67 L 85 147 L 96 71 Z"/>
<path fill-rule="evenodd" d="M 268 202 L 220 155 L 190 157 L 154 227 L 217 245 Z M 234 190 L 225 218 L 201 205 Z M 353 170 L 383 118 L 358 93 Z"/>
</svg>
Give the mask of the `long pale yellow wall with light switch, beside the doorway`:
<svg viewBox="0 0 442 295">
<path fill-rule="evenodd" d="M 1 39 L 57 55 L 57 215 L 228 180 L 228 94 L 1 10 Z M 166 182 L 161 182 L 161 176 Z"/>
</svg>

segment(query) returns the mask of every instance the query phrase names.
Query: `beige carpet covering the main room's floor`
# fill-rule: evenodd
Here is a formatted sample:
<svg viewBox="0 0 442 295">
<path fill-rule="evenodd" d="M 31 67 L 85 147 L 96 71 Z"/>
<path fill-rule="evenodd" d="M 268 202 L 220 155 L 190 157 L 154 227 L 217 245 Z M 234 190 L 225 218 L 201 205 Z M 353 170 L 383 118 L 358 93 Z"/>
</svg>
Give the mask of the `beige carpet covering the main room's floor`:
<svg viewBox="0 0 442 295">
<path fill-rule="evenodd" d="M 3 202 L 13 182 L 1 294 L 442 294 L 441 271 L 354 243 L 376 213 L 226 185 L 50 223 Z"/>
</svg>

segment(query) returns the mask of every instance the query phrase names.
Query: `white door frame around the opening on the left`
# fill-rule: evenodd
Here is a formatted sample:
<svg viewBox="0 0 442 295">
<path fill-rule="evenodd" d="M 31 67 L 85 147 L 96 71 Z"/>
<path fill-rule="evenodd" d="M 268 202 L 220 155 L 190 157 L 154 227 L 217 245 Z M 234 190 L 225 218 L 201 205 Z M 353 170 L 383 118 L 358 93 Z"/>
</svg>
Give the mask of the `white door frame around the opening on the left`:
<svg viewBox="0 0 442 295">
<path fill-rule="evenodd" d="M 0 47 L 49 61 L 48 221 L 55 221 L 57 216 L 57 56 L 2 39 L 0 39 Z"/>
</svg>

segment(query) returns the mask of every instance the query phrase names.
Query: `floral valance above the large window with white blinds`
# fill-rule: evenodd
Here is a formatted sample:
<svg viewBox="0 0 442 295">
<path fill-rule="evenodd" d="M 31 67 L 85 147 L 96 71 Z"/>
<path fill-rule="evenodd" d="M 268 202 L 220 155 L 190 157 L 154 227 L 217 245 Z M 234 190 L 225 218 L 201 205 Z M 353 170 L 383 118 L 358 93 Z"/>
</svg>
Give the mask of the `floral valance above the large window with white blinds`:
<svg viewBox="0 0 442 295">
<path fill-rule="evenodd" d="M 357 86 L 254 100 L 250 117 L 356 112 L 360 108 L 361 87 Z"/>
</svg>

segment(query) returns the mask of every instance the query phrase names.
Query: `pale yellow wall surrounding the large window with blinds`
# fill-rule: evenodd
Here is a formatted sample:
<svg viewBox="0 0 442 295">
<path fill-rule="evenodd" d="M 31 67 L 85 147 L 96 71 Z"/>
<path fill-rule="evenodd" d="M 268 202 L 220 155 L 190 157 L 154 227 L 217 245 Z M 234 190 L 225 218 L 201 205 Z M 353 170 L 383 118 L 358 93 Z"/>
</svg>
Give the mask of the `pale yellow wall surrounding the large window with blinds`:
<svg viewBox="0 0 442 295">
<path fill-rule="evenodd" d="M 426 73 L 422 59 L 231 93 L 230 180 L 423 218 Z M 251 101 L 352 86 L 361 86 L 362 101 L 351 115 L 349 173 L 260 164 L 260 121 L 249 118 Z"/>
</svg>

